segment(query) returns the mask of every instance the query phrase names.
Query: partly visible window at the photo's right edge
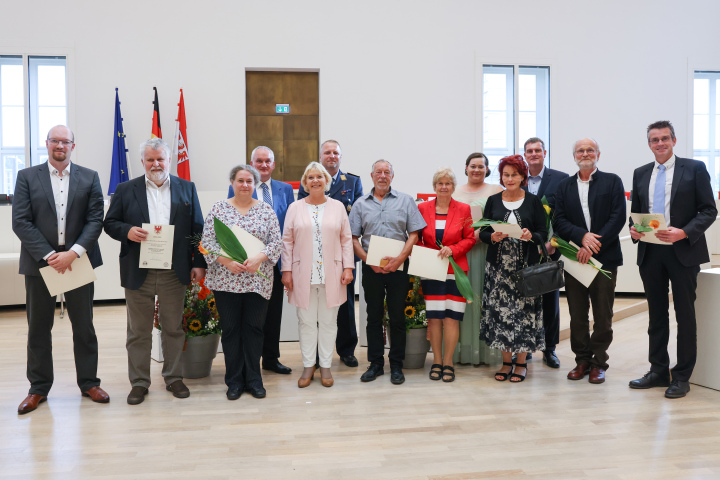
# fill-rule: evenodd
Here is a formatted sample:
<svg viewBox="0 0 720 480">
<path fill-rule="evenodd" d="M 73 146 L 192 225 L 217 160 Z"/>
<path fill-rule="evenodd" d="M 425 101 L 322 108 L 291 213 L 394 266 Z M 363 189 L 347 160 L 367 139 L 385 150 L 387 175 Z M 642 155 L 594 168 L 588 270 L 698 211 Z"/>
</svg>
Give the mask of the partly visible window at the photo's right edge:
<svg viewBox="0 0 720 480">
<path fill-rule="evenodd" d="M 707 165 L 720 188 L 720 72 L 696 71 L 693 85 L 693 156 Z"/>
</svg>

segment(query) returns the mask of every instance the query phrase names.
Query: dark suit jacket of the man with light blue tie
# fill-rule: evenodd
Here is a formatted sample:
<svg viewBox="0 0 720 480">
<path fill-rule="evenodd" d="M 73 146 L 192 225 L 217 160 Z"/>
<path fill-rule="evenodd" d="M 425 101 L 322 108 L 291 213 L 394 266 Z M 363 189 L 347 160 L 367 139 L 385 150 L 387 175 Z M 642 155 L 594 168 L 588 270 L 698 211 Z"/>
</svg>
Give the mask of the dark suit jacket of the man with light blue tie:
<svg viewBox="0 0 720 480">
<path fill-rule="evenodd" d="M 633 213 L 650 210 L 650 176 L 655 162 L 635 169 L 633 174 Z M 710 261 L 705 230 L 715 221 L 717 208 L 710 184 L 710 175 L 703 162 L 675 157 L 675 171 L 670 190 L 670 227 L 681 228 L 687 238 L 672 244 L 681 264 L 693 267 Z M 633 225 L 632 218 L 629 220 Z M 638 265 L 642 265 L 647 243 L 638 243 Z"/>
</svg>

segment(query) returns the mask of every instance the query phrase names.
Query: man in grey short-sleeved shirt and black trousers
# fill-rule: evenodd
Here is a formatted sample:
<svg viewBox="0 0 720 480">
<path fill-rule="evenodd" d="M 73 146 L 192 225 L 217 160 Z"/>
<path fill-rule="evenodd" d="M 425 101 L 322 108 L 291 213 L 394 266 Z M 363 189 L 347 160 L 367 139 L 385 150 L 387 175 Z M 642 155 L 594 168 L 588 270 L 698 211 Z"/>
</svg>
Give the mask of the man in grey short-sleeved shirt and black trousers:
<svg viewBox="0 0 720 480">
<path fill-rule="evenodd" d="M 410 256 L 418 240 L 419 231 L 425 228 L 425 220 L 415 201 L 405 193 L 390 187 L 395 176 L 387 160 L 377 160 L 372 165 L 370 177 L 373 189 L 358 199 L 350 212 L 350 230 L 353 235 L 355 255 L 362 260 L 362 285 L 367 302 L 368 361 L 370 366 L 360 380 L 372 382 L 385 373 L 385 343 L 382 319 L 387 311 L 390 317 L 390 382 L 399 385 L 405 381 L 402 372 L 405 360 L 405 298 L 410 278 L 405 260 Z M 392 238 L 405 242 L 397 257 L 385 257 L 385 266 L 368 265 L 367 251 L 370 237 Z M 362 243 L 361 243 L 362 242 Z"/>
</svg>

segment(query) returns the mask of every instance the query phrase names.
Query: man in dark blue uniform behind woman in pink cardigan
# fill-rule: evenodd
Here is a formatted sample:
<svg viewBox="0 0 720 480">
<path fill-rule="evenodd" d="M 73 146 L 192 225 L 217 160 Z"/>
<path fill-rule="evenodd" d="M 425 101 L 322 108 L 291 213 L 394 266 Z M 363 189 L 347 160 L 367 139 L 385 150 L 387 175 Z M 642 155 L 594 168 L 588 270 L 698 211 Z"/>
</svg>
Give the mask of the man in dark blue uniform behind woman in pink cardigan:
<svg viewBox="0 0 720 480">
<path fill-rule="evenodd" d="M 320 163 L 332 176 L 332 184 L 327 195 L 342 202 L 345 205 L 348 215 L 355 201 L 362 197 L 362 182 L 360 177 L 352 173 L 340 170 L 342 159 L 342 148 L 337 140 L 326 140 L 320 145 Z M 298 200 L 307 197 L 307 192 L 300 185 Z M 355 262 L 358 262 L 355 257 Z M 338 310 L 338 333 L 335 339 L 335 349 L 340 360 L 348 367 L 357 367 L 358 360 L 355 357 L 357 346 L 357 328 L 355 327 L 355 274 L 353 280 L 347 286 L 347 302 L 340 305 Z"/>
</svg>

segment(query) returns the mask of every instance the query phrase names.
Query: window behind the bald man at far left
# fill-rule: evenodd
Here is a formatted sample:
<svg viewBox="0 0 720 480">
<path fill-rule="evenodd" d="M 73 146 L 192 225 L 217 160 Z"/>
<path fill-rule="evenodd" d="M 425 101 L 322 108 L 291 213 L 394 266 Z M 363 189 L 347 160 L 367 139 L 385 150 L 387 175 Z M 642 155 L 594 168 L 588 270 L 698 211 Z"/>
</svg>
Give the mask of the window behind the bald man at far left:
<svg viewBox="0 0 720 480">
<path fill-rule="evenodd" d="M 13 193 L 18 170 L 47 161 L 48 130 L 67 123 L 65 64 L 65 57 L 0 56 L 2 193 Z"/>
</svg>

